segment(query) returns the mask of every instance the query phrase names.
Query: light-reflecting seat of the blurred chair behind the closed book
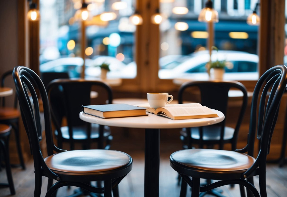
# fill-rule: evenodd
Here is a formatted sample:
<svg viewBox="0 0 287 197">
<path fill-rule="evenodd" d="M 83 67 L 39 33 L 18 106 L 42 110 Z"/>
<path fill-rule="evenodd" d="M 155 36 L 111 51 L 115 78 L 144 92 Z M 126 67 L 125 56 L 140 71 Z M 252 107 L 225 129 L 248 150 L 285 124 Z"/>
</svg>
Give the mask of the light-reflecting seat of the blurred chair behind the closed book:
<svg viewBox="0 0 287 197">
<path fill-rule="evenodd" d="M 73 139 L 75 139 L 75 140 L 86 140 L 86 139 L 88 139 L 86 129 L 87 128 L 84 126 L 73 127 Z M 92 124 L 91 129 L 92 129 L 91 130 L 91 139 L 99 138 L 99 125 Z M 61 132 L 62 132 L 63 140 L 70 140 L 69 127 L 68 126 L 61 127 Z M 111 134 L 110 128 L 108 126 L 104 126 L 104 138 L 110 136 L 110 134 Z M 57 130 L 55 131 L 55 135 L 58 136 Z"/>
</svg>

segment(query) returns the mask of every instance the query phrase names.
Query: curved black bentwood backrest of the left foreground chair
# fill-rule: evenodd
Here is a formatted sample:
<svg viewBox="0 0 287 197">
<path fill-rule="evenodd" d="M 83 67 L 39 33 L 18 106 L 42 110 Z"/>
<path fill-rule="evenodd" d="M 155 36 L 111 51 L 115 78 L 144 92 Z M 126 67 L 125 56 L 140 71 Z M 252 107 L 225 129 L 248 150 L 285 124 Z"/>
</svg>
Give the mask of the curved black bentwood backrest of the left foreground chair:
<svg viewBox="0 0 287 197">
<path fill-rule="evenodd" d="M 34 158 L 35 171 L 41 173 L 42 167 L 50 177 L 58 180 L 59 176 L 46 166 L 39 143 L 42 140 L 43 130 L 38 99 L 42 98 L 47 153 L 48 155 L 52 155 L 54 154 L 53 150 L 57 152 L 63 151 L 58 149 L 53 142 L 50 106 L 46 89 L 40 77 L 34 71 L 24 66 L 16 66 L 14 68 L 13 79 L 16 86 L 22 120 L 30 143 L 31 154 Z"/>
</svg>

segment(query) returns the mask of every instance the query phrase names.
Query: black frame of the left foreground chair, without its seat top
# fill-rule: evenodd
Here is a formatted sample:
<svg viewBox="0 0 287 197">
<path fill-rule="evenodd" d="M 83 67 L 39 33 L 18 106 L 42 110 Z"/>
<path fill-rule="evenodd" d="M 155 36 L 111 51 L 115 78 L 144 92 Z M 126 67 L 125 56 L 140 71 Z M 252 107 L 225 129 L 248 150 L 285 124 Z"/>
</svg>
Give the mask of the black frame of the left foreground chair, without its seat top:
<svg viewBox="0 0 287 197">
<path fill-rule="evenodd" d="M 50 106 L 44 85 L 34 71 L 24 66 L 17 66 L 14 68 L 13 78 L 20 103 L 23 123 L 30 143 L 31 154 L 34 159 L 34 197 L 40 196 L 41 194 L 42 176 L 49 178 L 46 193 L 47 197 L 55 195 L 57 189 L 63 186 L 76 186 L 83 188 L 88 192 L 104 193 L 105 197 L 111 197 L 111 190 L 115 189 L 119 182 L 127 175 L 127 173 L 129 173 L 129 171 L 131 171 L 131 157 L 129 156 L 129 163 L 119 169 L 98 172 L 91 176 L 83 176 L 80 174 L 72 178 L 69 175 L 58 175 L 51 171 L 44 161 L 39 143 L 42 140 L 42 126 L 38 103 L 39 95 L 43 101 L 47 154 L 48 156 L 51 156 L 54 154 L 54 151 L 61 153 L 66 150 L 57 148 L 53 142 Z M 38 94 L 36 92 L 38 92 Z M 31 102 L 30 99 L 32 99 L 33 102 Z M 53 179 L 58 182 L 53 184 Z M 87 184 L 90 181 L 104 181 L 104 188 L 96 188 Z"/>
</svg>

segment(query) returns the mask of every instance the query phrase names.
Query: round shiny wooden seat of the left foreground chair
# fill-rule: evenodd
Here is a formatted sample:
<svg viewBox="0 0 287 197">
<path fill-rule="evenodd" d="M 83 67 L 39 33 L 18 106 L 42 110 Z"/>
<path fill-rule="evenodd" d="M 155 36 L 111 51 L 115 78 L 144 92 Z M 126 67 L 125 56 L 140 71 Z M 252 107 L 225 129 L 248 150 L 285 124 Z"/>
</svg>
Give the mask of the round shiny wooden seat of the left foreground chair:
<svg viewBox="0 0 287 197">
<path fill-rule="evenodd" d="M 54 173 L 69 179 L 85 175 L 95 180 L 95 175 L 110 174 L 113 170 L 131 165 L 131 157 L 116 150 L 71 150 L 46 157 L 44 161 Z"/>
</svg>

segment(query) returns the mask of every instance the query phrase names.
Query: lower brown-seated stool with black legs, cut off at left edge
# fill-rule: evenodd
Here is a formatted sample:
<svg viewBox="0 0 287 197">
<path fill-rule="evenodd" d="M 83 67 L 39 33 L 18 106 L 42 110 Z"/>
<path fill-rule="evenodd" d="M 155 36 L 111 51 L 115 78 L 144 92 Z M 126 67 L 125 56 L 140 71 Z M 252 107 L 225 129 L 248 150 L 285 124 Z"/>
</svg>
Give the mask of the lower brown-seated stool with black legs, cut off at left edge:
<svg viewBox="0 0 287 197">
<path fill-rule="evenodd" d="M 14 188 L 11 167 L 10 167 L 10 159 L 9 159 L 9 137 L 10 137 L 11 129 L 12 128 L 10 125 L 0 124 L 0 155 L 1 155 L 1 152 L 3 152 L 6 175 L 7 175 L 7 180 L 8 180 L 8 184 L 1 183 L 0 188 L 9 187 L 11 195 L 14 195 L 15 188 Z"/>
</svg>

